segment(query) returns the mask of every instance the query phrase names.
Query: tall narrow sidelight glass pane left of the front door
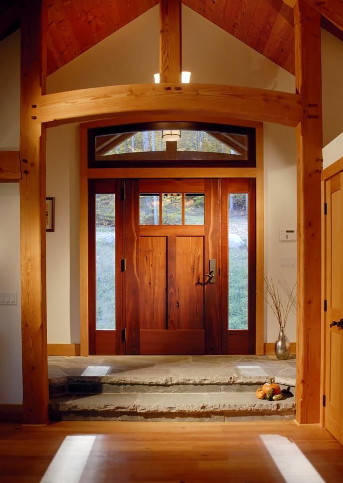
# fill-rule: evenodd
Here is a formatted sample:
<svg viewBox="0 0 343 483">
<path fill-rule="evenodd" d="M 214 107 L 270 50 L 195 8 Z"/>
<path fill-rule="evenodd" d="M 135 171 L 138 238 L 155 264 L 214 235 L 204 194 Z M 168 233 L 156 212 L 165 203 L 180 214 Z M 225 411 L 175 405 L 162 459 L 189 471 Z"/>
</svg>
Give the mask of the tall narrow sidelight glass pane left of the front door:
<svg viewBox="0 0 343 483">
<path fill-rule="evenodd" d="M 115 330 L 115 194 L 95 194 L 96 330 Z"/>
</svg>

